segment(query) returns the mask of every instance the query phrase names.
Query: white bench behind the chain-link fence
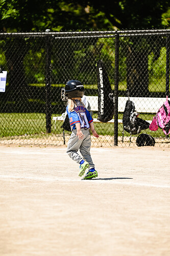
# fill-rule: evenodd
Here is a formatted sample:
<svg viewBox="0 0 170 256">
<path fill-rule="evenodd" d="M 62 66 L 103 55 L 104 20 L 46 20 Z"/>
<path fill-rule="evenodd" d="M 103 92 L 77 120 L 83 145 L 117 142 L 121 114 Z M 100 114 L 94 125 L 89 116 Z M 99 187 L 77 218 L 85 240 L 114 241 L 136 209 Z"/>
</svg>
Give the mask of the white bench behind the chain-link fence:
<svg viewBox="0 0 170 256">
<path fill-rule="evenodd" d="M 98 96 L 86 96 L 87 101 L 90 103 L 91 111 L 98 111 Z M 124 112 L 126 101 L 128 97 L 118 97 L 118 112 Z M 143 98 L 143 97 L 130 97 L 135 104 L 135 109 L 138 113 L 152 113 L 155 114 L 165 102 L 166 98 Z M 55 129 L 56 121 L 64 121 L 65 116 L 54 116 Z M 152 120 L 147 120 L 149 123 Z M 101 122 L 97 118 L 93 118 L 93 122 Z M 108 121 L 108 123 L 114 123 L 114 119 Z M 118 123 L 123 123 L 122 119 L 118 119 Z"/>
</svg>

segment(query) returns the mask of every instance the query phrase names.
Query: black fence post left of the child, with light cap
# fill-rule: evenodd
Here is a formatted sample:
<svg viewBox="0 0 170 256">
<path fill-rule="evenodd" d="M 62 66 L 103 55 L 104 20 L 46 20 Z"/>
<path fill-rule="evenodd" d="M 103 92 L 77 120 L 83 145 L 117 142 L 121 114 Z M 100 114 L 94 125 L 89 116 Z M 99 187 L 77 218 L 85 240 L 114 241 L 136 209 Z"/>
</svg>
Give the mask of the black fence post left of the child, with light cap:
<svg viewBox="0 0 170 256">
<path fill-rule="evenodd" d="M 48 32 L 48 31 L 46 31 Z M 46 93 L 46 132 L 51 133 L 51 36 L 46 36 L 46 73 L 45 73 L 45 93 Z"/>
</svg>

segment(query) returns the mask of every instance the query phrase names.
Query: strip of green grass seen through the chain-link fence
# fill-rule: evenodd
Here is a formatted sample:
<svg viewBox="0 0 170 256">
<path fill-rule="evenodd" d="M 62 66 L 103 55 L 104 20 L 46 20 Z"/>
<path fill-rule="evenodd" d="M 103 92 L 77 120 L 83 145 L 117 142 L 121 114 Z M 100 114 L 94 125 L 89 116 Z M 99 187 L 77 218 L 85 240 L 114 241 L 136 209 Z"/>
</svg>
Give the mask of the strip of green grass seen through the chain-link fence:
<svg viewBox="0 0 170 256">
<path fill-rule="evenodd" d="M 53 116 L 56 116 L 54 114 Z M 94 113 L 93 118 L 98 117 Z M 152 120 L 153 115 L 140 114 L 140 118 Z M 123 114 L 118 114 L 118 119 L 122 119 Z M 62 134 L 62 122 L 52 120 L 52 134 Z M 99 135 L 114 136 L 114 123 L 94 123 L 96 131 Z M 122 136 L 123 124 L 118 124 L 118 136 Z M 153 137 L 165 137 L 161 129 L 157 132 L 151 132 L 149 129 L 142 131 L 143 133 L 151 134 Z M 67 133 L 67 132 L 66 132 Z M 70 132 L 68 132 L 70 134 Z M 42 113 L 0 113 L 0 137 L 28 135 L 29 137 L 38 138 L 46 134 L 45 114 Z M 47 136 L 47 134 L 46 134 Z M 125 136 L 130 136 L 125 132 Z M 136 135 L 137 136 L 137 135 Z"/>
</svg>

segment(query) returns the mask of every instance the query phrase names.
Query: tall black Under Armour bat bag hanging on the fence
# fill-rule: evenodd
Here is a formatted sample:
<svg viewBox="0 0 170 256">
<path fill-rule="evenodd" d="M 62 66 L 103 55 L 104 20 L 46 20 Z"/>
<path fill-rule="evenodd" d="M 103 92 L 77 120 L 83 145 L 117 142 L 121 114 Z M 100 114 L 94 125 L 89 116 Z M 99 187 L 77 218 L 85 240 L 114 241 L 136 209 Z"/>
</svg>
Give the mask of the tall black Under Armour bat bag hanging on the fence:
<svg viewBox="0 0 170 256">
<path fill-rule="evenodd" d="M 103 61 L 100 59 L 97 63 L 98 72 L 98 120 L 108 122 L 114 115 L 113 91 L 110 81 L 104 67 Z"/>
</svg>

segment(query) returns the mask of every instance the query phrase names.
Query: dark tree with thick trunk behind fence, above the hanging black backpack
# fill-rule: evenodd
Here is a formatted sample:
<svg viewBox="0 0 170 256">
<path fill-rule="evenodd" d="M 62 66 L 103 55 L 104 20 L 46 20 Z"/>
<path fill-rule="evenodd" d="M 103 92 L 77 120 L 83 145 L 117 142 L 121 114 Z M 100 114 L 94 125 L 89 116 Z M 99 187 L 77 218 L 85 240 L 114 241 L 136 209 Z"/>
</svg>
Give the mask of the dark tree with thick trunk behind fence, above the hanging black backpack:
<svg viewBox="0 0 170 256">
<path fill-rule="evenodd" d="M 165 24 L 170 25 L 167 18 L 169 12 L 164 14 L 164 19 L 162 17 L 169 10 L 169 2 L 165 0 L 89 2 L 95 10 L 104 12 L 110 23 L 118 29 L 161 29 Z M 149 93 L 148 54 L 156 48 L 153 48 L 153 42 L 147 42 L 147 48 L 142 46 L 144 43 L 143 38 L 140 41 L 132 39 L 127 47 L 127 88 L 131 96 L 147 96 Z"/>
</svg>

